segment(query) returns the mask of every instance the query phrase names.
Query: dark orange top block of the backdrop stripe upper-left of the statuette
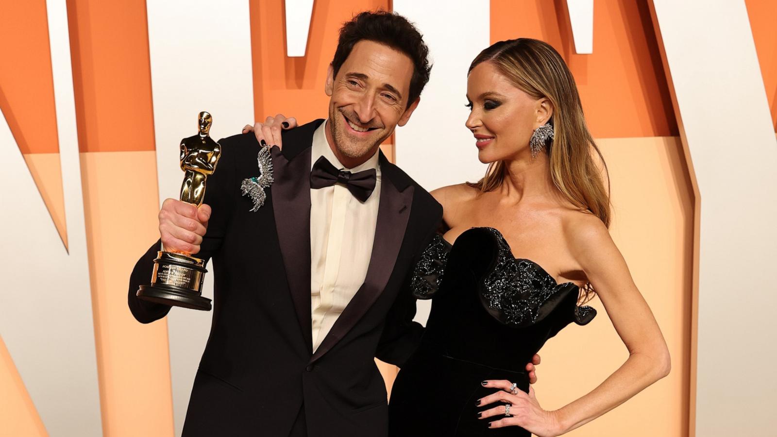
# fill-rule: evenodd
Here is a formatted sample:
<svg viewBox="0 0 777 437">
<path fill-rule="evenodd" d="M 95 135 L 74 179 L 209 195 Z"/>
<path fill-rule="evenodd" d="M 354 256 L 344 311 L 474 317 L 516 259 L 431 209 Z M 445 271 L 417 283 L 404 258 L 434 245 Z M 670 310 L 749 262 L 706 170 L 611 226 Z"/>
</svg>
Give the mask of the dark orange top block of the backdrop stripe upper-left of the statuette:
<svg viewBox="0 0 777 437">
<path fill-rule="evenodd" d="M 81 152 L 154 150 L 143 0 L 68 0 Z"/>
</svg>

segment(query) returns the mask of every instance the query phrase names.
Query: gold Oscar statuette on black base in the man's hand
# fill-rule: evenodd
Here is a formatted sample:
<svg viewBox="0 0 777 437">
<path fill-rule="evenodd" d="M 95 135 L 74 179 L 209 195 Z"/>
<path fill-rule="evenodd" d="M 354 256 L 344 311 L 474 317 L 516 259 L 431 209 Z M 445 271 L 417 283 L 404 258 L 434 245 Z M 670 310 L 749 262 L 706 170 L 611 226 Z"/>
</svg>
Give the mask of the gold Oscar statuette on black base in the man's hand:
<svg viewBox="0 0 777 437">
<path fill-rule="evenodd" d="M 200 112 L 199 132 L 181 140 L 181 201 L 199 208 L 205 196 L 205 180 L 216 170 L 221 145 L 208 135 L 211 114 Z M 164 249 L 164 248 L 163 248 Z M 138 298 L 184 308 L 211 310 L 211 299 L 202 295 L 204 260 L 191 253 L 161 251 L 154 260 L 151 284 L 141 285 Z"/>
</svg>

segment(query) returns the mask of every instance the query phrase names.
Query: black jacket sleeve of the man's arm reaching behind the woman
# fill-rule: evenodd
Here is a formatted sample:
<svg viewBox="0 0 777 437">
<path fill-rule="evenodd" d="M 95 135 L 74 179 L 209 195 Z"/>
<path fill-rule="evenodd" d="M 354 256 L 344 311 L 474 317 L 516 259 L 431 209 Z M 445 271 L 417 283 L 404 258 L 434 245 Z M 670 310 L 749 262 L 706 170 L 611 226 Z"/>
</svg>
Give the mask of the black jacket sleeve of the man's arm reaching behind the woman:
<svg viewBox="0 0 777 437">
<path fill-rule="evenodd" d="M 419 297 L 414 288 L 417 288 L 418 267 L 423 264 L 422 258 L 424 253 L 427 253 L 427 248 L 435 242 L 440 221 L 437 220 L 434 223 L 423 244 L 420 245 L 420 250 L 413 257 L 414 267 L 409 269 L 404 285 L 386 316 L 383 334 L 375 354 L 382 362 L 402 367 L 420 344 L 423 326 L 413 321 L 413 317 L 416 316 L 416 299 Z"/>
</svg>

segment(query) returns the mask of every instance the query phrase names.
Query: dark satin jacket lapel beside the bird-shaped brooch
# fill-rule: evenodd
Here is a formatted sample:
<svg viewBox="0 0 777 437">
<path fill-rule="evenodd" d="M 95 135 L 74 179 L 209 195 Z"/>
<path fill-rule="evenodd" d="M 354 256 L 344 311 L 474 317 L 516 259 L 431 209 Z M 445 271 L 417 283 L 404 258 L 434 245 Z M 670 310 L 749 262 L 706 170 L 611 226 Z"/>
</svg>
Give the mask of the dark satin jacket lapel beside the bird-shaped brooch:
<svg viewBox="0 0 777 437">
<path fill-rule="evenodd" d="M 297 311 L 299 326 L 312 353 L 310 320 L 310 154 L 299 152 L 288 160 L 272 149 L 274 183 L 273 213 L 286 279 Z"/>
</svg>

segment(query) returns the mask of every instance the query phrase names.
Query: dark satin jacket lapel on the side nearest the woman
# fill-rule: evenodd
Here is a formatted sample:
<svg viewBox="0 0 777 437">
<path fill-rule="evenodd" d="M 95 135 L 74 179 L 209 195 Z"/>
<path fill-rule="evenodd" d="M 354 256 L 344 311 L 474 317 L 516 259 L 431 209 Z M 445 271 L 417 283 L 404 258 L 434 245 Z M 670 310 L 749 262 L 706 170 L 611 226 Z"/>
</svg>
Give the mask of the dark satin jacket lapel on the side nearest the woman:
<svg viewBox="0 0 777 437">
<path fill-rule="evenodd" d="M 381 295 L 389 277 L 394 271 L 394 264 L 402 246 L 407 221 L 410 217 L 410 206 L 413 205 L 413 186 L 399 191 L 382 172 L 381 201 L 378 206 L 378 222 L 375 225 L 375 240 L 372 244 L 372 255 L 367 267 L 367 277 L 364 284 L 356 292 L 353 299 L 343 309 L 329 334 L 310 358 L 314 362 L 326 354 L 354 325 L 367 313 L 378 296 Z"/>
</svg>

